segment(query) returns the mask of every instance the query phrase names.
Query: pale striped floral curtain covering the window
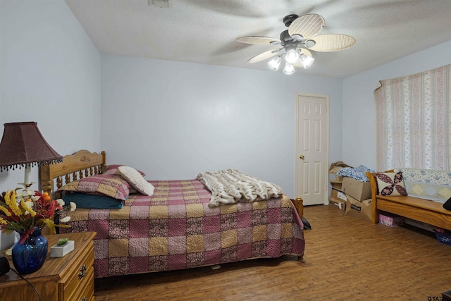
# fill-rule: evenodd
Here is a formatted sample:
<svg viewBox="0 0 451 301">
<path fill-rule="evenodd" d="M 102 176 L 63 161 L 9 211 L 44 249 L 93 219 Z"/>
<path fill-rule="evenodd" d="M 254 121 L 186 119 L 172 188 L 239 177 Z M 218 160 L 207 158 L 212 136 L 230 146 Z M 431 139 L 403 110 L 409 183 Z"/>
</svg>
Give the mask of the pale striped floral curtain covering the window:
<svg viewBox="0 0 451 301">
<path fill-rule="evenodd" d="M 376 99 L 378 171 L 451 170 L 451 65 L 381 80 Z"/>
</svg>

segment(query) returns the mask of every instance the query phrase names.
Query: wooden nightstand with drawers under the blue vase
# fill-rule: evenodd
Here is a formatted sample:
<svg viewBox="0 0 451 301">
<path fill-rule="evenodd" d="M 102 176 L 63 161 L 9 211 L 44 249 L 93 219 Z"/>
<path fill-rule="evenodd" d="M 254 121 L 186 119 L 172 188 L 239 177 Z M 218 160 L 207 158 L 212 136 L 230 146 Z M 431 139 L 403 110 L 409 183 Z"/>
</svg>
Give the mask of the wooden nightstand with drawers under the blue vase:
<svg viewBox="0 0 451 301">
<path fill-rule="evenodd" d="M 47 259 L 39 271 L 23 275 L 35 286 L 42 301 L 94 301 L 94 242 L 95 232 L 45 235 L 49 240 Z M 75 241 L 75 247 L 64 257 L 51 258 L 50 247 L 60 238 Z M 4 255 L 4 252 L 2 252 Z M 7 256 L 11 268 L 11 257 Z M 13 271 L 0 276 L 0 300 L 39 301 L 33 288 Z"/>
</svg>

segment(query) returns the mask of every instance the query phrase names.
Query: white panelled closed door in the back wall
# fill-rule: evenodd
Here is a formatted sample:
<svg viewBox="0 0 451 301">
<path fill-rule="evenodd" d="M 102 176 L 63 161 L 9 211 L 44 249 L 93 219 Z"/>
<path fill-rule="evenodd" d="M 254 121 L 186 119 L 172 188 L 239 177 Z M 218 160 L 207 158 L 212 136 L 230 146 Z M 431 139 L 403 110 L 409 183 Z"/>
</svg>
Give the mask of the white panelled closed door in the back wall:
<svg viewBox="0 0 451 301">
<path fill-rule="evenodd" d="M 327 95 L 296 95 L 296 197 L 304 205 L 328 204 Z"/>
</svg>

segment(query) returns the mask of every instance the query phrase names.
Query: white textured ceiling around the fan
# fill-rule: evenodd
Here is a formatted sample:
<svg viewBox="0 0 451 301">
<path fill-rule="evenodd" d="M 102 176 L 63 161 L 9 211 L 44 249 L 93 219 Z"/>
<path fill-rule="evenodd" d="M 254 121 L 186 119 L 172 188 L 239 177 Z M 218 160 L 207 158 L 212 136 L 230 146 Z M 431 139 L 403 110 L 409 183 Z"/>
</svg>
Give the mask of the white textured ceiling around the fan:
<svg viewBox="0 0 451 301">
<path fill-rule="evenodd" d="M 277 47 L 242 44 L 235 38 L 279 38 L 287 29 L 283 17 L 291 13 L 317 13 L 326 20 L 320 34 L 357 40 L 342 51 L 312 51 L 313 65 L 297 68 L 295 75 L 346 78 L 451 40 L 451 0 L 169 0 L 168 8 L 148 0 L 66 3 L 101 54 L 274 72 L 268 60 L 247 60 Z"/>
</svg>

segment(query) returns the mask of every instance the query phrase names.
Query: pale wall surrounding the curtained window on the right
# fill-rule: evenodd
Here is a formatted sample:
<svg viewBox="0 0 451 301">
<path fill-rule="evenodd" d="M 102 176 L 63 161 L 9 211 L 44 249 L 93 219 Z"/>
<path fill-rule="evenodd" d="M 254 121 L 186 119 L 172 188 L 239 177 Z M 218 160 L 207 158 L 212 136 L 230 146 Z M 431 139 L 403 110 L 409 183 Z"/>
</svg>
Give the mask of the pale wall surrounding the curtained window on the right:
<svg viewBox="0 0 451 301">
<path fill-rule="evenodd" d="M 450 64 L 450 49 L 451 41 L 448 41 L 342 81 L 342 154 L 345 163 L 376 168 L 376 106 L 373 92 L 379 80 L 421 73 Z"/>
</svg>

